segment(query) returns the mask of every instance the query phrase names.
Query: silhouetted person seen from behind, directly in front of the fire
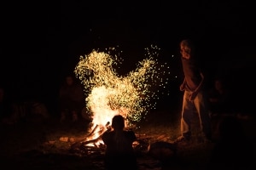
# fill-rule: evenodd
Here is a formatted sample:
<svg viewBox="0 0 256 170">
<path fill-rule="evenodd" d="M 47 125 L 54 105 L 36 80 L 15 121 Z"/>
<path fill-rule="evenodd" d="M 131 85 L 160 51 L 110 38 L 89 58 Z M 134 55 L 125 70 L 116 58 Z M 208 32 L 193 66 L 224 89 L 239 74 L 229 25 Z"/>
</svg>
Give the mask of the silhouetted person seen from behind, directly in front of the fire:
<svg viewBox="0 0 256 170">
<path fill-rule="evenodd" d="M 133 131 L 126 131 L 123 116 L 113 116 L 113 131 L 102 134 L 102 141 L 107 145 L 105 153 L 106 169 L 137 169 L 137 157 L 132 143 L 137 139 Z"/>
</svg>

